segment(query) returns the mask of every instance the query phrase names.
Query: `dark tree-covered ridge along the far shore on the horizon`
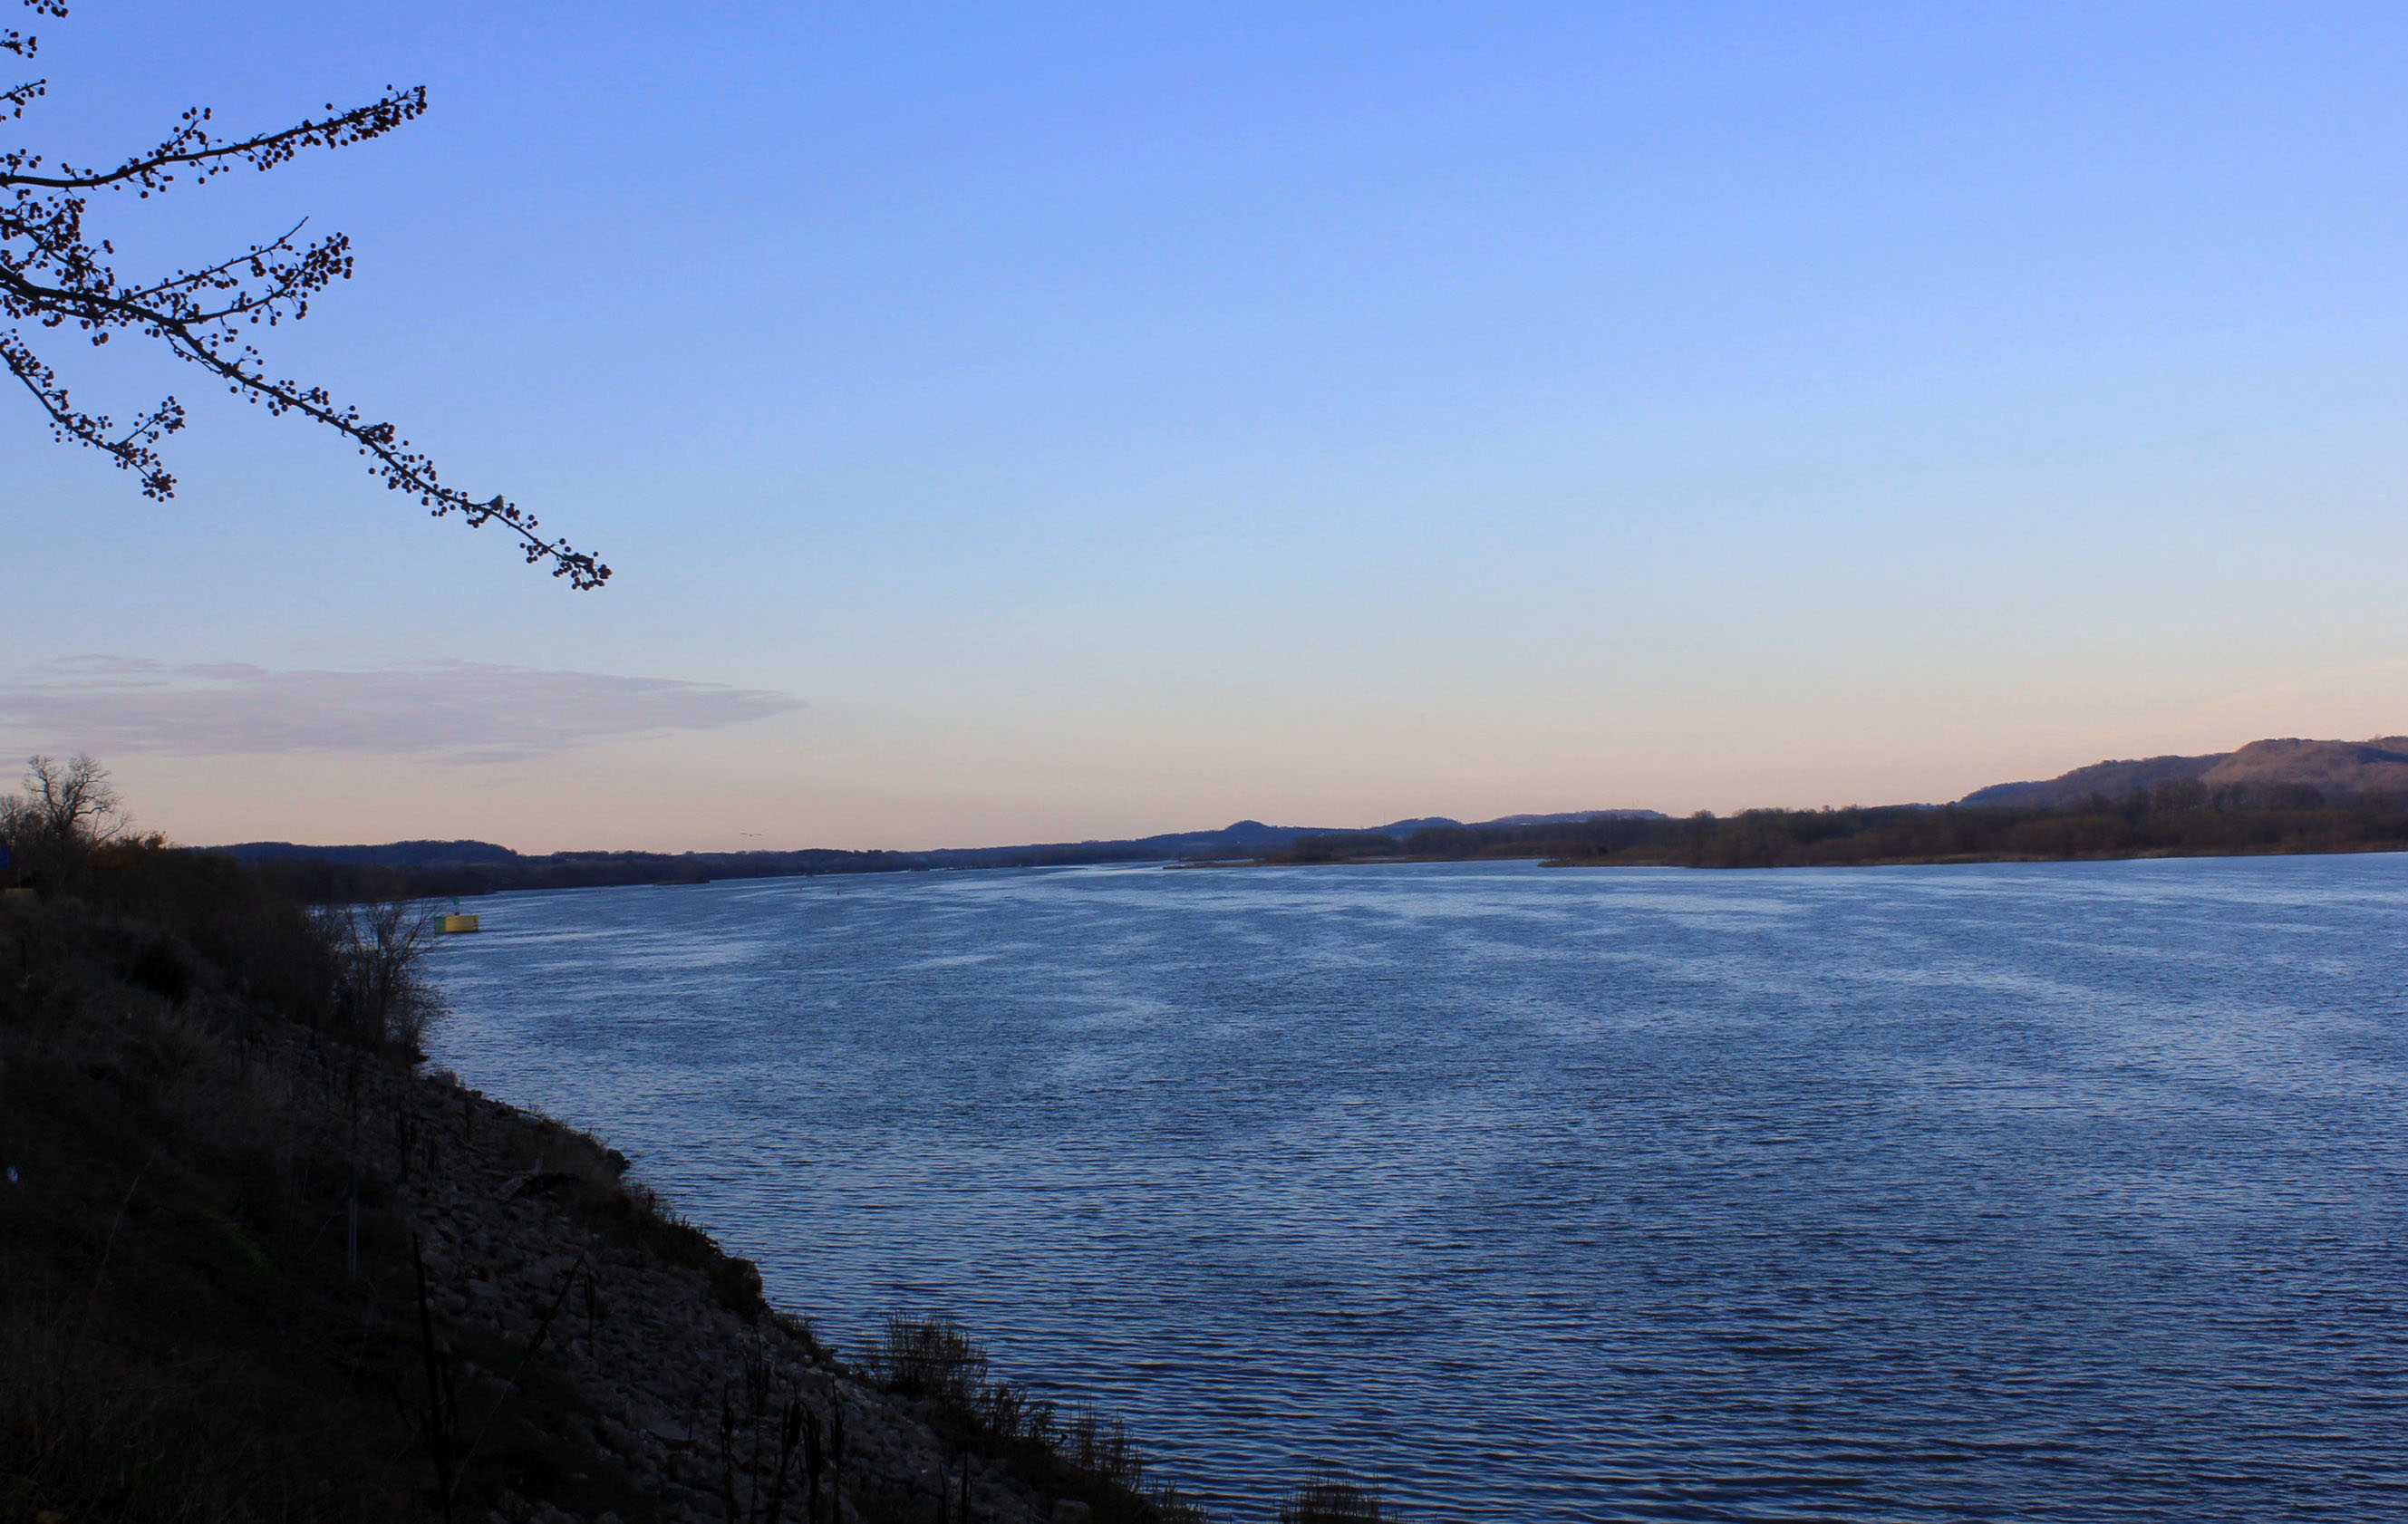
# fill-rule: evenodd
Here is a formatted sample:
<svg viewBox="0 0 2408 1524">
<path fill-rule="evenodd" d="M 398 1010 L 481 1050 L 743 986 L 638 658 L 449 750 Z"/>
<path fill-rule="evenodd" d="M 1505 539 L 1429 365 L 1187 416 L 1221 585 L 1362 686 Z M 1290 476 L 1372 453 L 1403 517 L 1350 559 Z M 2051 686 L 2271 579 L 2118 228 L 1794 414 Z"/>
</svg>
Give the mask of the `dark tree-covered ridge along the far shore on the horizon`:
<svg viewBox="0 0 2408 1524">
<path fill-rule="evenodd" d="M 2324 780 L 2324 782 L 2314 782 Z M 2054 862 L 2394 852 L 2408 847 L 2408 744 L 2249 742 L 2213 756 L 2158 756 L 2076 768 L 2044 782 L 1977 790 L 1955 804 L 1700 811 L 1645 809 L 1445 816 L 1363 831 L 1238 821 L 1129 840 L 946 847 L 925 852 L 549 852 L 426 840 L 376 847 L 246 843 L 282 891 L 315 903 L 474 896 L 503 888 L 703 884 L 797 874 L 881 874 L 1100 862 L 1452 862 L 1539 857 L 1580 867 L 1837 867 L 1883 862 Z"/>
</svg>

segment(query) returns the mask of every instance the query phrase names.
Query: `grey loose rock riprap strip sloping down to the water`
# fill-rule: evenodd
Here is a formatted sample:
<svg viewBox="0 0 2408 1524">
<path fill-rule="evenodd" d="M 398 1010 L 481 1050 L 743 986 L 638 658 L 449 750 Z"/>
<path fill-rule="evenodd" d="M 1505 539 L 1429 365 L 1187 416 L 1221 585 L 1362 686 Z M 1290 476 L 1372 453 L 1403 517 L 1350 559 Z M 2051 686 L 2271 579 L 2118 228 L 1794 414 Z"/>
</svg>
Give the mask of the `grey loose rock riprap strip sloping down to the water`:
<svg viewBox="0 0 2408 1524">
<path fill-rule="evenodd" d="M 807 1324 L 761 1300 L 749 1262 L 669 1216 L 592 1136 L 445 1074 L 388 1071 L 378 1083 L 380 1110 L 400 1120 L 395 1209 L 419 1233 L 433 1315 L 503 1348 L 542 1341 L 551 1372 L 590 1411 L 595 1445 L 660 1519 L 761 1517 L 775 1478 L 759 1430 L 783 1420 L 785 1401 L 828 1435 L 828 1517 L 1091 1519 L 1091 1502 L 1045 1495 L 1004 1459 L 939 1433 L 937 1404 L 896 1396 L 836 1360 Z M 787 1471 L 799 1517 L 807 1481 L 792 1459 Z M 494 1514 L 585 1524 L 544 1500 L 503 1500 Z"/>
</svg>

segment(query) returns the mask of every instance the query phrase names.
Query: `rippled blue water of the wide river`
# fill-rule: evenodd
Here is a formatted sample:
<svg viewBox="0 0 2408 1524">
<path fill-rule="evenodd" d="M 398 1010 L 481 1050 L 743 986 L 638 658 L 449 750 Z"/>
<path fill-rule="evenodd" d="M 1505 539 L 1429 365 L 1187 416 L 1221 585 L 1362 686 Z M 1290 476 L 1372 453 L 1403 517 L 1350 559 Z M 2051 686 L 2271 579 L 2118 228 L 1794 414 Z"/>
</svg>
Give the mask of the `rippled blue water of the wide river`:
<svg viewBox="0 0 2408 1524">
<path fill-rule="evenodd" d="M 2408 1517 L 2408 857 L 474 908 L 441 1062 L 1216 1517 Z"/>
</svg>

